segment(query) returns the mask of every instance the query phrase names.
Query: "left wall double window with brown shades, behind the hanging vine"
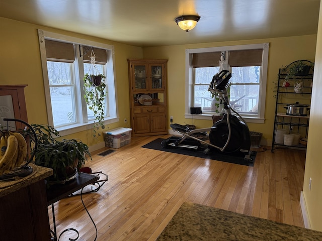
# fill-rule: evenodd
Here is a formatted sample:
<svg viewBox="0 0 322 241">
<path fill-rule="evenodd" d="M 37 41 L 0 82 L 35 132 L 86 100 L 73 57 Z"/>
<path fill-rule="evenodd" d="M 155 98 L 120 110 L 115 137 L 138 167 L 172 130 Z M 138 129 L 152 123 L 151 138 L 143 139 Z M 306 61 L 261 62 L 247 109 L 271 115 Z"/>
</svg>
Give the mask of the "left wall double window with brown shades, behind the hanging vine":
<svg viewBox="0 0 322 241">
<path fill-rule="evenodd" d="M 84 99 L 83 78 L 92 50 L 99 73 L 106 76 L 104 121 L 118 122 L 113 46 L 38 30 L 49 125 L 61 135 L 88 130 L 94 113 Z M 62 40 L 63 39 L 63 40 Z"/>
</svg>

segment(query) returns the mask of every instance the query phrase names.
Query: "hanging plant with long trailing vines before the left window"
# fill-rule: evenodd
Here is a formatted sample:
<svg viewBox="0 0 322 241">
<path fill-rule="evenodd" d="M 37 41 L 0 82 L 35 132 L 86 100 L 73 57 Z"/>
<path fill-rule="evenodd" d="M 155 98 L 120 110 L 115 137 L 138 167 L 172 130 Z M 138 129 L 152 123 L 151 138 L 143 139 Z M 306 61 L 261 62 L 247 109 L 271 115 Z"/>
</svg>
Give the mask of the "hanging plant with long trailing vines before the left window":
<svg viewBox="0 0 322 241">
<path fill-rule="evenodd" d="M 103 74 L 86 74 L 84 77 L 84 98 L 95 116 L 94 121 L 94 137 L 96 137 L 97 130 L 101 127 L 105 128 L 104 123 L 104 97 L 106 96 L 105 76 Z M 99 134 L 100 135 L 100 134 Z"/>
</svg>

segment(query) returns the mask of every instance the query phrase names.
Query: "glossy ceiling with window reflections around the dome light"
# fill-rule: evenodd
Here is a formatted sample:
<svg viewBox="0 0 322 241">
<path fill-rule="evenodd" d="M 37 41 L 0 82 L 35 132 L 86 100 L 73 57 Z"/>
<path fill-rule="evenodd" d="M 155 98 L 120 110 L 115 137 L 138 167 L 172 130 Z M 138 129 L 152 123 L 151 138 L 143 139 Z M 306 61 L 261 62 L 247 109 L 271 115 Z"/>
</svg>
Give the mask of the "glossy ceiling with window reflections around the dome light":
<svg viewBox="0 0 322 241">
<path fill-rule="evenodd" d="M 0 0 L 0 17 L 144 47 L 316 34 L 319 4 L 320 0 Z M 174 19 L 190 14 L 201 18 L 186 33 Z"/>
</svg>

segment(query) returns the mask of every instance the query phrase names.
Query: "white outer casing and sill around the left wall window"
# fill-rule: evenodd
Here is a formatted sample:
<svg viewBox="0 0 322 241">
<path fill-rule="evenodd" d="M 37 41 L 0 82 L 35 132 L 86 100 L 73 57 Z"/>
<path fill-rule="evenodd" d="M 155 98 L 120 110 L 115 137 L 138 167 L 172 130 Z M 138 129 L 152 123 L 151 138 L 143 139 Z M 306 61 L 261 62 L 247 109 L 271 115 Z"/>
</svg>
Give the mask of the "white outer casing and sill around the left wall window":
<svg viewBox="0 0 322 241">
<path fill-rule="evenodd" d="M 72 43 L 72 44 L 80 44 L 80 45 L 88 45 L 88 46 L 95 46 L 98 48 L 108 49 L 111 51 L 111 54 L 108 55 L 108 61 L 106 63 L 108 69 L 113 69 L 113 73 L 107 72 L 106 78 L 114 82 L 114 91 L 109 91 L 107 97 L 109 98 L 109 101 L 115 101 L 115 110 L 113 110 L 112 116 L 116 117 L 106 117 L 104 119 L 105 125 L 119 122 L 119 115 L 118 115 L 118 101 L 117 101 L 117 91 L 116 91 L 116 76 L 115 76 L 115 53 L 114 53 L 114 46 L 103 44 L 99 42 L 94 42 L 86 39 L 80 39 L 76 37 L 66 36 L 62 34 L 52 33 L 48 31 L 44 31 L 41 29 L 38 29 L 38 38 L 39 38 L 39 48 L 40 48 L 40 55 L 41 55 L 41 64 L 42 64 L 42 70 L 43 70 L 43 79 L 44 79 L 44 89 L 45 89 L 45 98 L 46 98 L 46 106 L 47 106 L 47 117 L 48 117 L 48 124 L 50 126 L 53 126 L 53 118 L 52 118 L 52 109 L 51 109 L 51 100 L 50 100 L 50 89 L 49 89 L 49 79 L 48 79 L 48 71 L 47 71 L 47 58 L 46 58 L 46 49 L 45 45 L 43 44 L 45 39 L 50 40 L 61 40 L 66 43 Z M 76 54 L 76 51 L 75 51 Z M 79 62 L 78 62 L 79 63 Z M 75 67 L 75 79 L 79 79 L 78 73 L 79 73 L 79 66 L 77 64 L 74 64 Z M 83 74 L 83 73 L 79 73 Z M 80 94 L 84 95 L 83 88 L 77 89 L 77 91 L 80 91 Z M 79 94 L 77 92 L 77 94 Z M 85 102 L 84 98 L 81 98 L 82 102 Z M 87 118 L 87 116 L 86 116 Z M 68 125 L 68 127 L 61 127 L 56 128 L 57 131 L 59 131 L 59 134 L 61 136 L 70 135 L 76 132 L 86 131 L 93 129 L 93 123 L 94 121 L 89 121 L 88 123 L 77 123 L 74 125 Z"/>
</svg>

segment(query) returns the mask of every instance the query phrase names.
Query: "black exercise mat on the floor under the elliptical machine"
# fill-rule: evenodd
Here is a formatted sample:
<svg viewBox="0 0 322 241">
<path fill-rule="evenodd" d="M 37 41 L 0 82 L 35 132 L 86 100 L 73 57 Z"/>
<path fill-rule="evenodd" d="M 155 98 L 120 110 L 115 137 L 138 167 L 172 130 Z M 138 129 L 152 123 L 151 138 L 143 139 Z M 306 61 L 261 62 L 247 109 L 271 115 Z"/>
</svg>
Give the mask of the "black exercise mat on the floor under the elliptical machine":
<svg viewBox="0 0 322 241">
<path fill-rule="evenodd" d="M 158 138 L 144 146 L 143 148 L 158 150 L 158 151 L 164 151 L 164 152 L 171 152 L 171 153 L 177 153 L 182 155 L 188 155 L 193 157 L 200 157 L 200 158 L 207 158 L 211 160 L 217 160 L 222 162 L 229 162 L 234 164 L 240 164 L 245 166 L 254 166 L 255 158 L 257 152 L 253 152 L 251 155 L 252 161 L 245 160 L 244 157 L 235 156 L 232 154 L 223 154 L 221 152 L 210 152 L 207 155 L 203 153 L 203 150 L 190 150 L 186 148 L 180 148 L 180 147 L 167 147 L 163 148 L 161 146 L 161 142 L 166 139 Z"/>
</svg>

